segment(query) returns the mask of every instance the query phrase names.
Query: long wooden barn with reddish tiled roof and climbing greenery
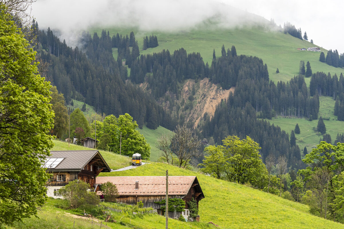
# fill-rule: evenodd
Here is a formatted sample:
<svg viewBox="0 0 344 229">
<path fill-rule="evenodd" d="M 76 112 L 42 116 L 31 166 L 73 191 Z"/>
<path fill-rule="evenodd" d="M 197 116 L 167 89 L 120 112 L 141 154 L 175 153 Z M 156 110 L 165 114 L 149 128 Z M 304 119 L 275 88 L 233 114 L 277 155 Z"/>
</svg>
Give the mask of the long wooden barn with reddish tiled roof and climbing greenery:
<svg viewBox="0 0 344 229">
<path fill-rule="evenodd" d="M 96 178 L 98 195 L 101 194 L 99 186 L 106 182 L 116 185 L 119 193 L 118 202 L 134 205 L 142 201 L 144 207 L 152 207 L 158 210 L 158 214 L 163 214 L 160 209 L 163 205 L 154 202 L 166 199 L 166 176 L 98 176 Z M 187 203 L 191 198 L 196 200 L 197 207 L 198 202 L 204 198 L 196 176 L 169 176 L 168 195 L 169 198 L 181 198 L 185 201 L 184 211 L 181 213 L 169 211 L 169 217 L 178 218 L 182 214 L 186 220 L 190 220 Z"/>
</svg>

